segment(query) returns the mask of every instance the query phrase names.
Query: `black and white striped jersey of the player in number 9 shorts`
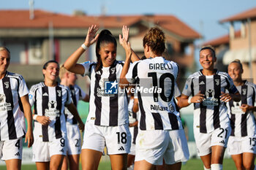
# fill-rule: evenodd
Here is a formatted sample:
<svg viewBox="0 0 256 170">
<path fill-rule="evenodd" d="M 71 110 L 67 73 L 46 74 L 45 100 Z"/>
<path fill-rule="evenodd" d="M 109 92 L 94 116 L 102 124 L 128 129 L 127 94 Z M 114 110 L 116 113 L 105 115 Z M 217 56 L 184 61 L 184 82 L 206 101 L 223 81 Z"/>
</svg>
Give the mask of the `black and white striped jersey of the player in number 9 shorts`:
<svg viewBox="0 0 256 170">
<path fill-rule="evenodd" d="M 50 117 L 49 125 L 34 121 L 34 138 L 42 142 L 67 136 L 64 105 L 72 101 L 69 88 L 62 85 L 48 87 L 44 82 L 33 85 L 29 91 L 29 103 L 34 106 L 34 114 Z"/>
</svg>

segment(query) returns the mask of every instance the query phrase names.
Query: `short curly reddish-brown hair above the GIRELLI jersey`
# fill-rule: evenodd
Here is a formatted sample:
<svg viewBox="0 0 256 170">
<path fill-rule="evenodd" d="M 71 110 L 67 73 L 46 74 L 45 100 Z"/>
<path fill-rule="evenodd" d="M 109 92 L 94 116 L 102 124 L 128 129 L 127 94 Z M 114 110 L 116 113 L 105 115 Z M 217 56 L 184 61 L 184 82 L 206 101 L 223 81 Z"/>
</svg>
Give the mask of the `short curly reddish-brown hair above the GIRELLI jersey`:
<svg viewBox="0 0 256 170">
<path fill-rule="evenodd" d="M 153 53 L 162 55 L 165 51 L 164 32 L 158 27 L 151 28 L 143 37 L 143 47 L 145 47 L 145 45 L 151 47 Z"/>
</svg>

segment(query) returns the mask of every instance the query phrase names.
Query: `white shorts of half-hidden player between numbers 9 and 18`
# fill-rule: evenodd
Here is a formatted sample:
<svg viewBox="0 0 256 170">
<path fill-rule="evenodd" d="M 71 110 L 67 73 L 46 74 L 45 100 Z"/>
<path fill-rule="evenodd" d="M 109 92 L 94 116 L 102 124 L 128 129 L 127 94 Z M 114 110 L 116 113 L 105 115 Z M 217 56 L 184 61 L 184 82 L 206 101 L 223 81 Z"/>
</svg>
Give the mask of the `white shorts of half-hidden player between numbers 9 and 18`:
<svg viewBox="0 0 256 170">
<path fill-rule="evenodd" d="M 67 124 L 67 155 L 79 155 L 81 152 L 81 136 L 78 125 Z"/>
</svg>

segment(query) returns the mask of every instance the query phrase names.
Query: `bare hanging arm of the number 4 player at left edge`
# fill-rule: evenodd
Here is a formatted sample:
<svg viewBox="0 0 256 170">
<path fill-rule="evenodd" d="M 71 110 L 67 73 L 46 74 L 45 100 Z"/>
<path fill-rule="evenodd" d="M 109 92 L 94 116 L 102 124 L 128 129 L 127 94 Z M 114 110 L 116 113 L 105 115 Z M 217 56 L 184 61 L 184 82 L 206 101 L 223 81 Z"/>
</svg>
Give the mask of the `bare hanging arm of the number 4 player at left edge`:
<svg viewBox="0 0 256 170">
<path fill-rule="evenodd" d="M 20 101 L 23 106 L 24 110 L 24 116 L 26 117 L 27 121 L 27 131 L 26 131 L 26 137 L 25 142 L 28 142 L 28 147 L 31 147 L 34 143 L 34 136 L 33 136 L 33 128 L 32 128 L 32 114 L 31 114 L 31 107 L 29 104 L 29 95 L 25 95 L 20 97 Z"/>
</svg>

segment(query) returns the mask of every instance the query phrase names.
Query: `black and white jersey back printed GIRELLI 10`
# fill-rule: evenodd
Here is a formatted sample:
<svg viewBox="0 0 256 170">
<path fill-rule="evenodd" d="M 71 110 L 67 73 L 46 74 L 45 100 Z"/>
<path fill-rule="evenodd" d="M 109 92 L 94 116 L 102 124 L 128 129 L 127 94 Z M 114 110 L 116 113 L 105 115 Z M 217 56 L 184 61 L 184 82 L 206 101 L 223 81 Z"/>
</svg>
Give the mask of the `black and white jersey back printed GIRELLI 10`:
<svg viewBox="0 0 256 170">
<path fill-rule="evenodd" d="M 140 108 L 140 130 L 182 129 L 174 100 L 178 65 L 163 57 L 132 63 L 126 78 L 136 82 Z"/>
</svg>

